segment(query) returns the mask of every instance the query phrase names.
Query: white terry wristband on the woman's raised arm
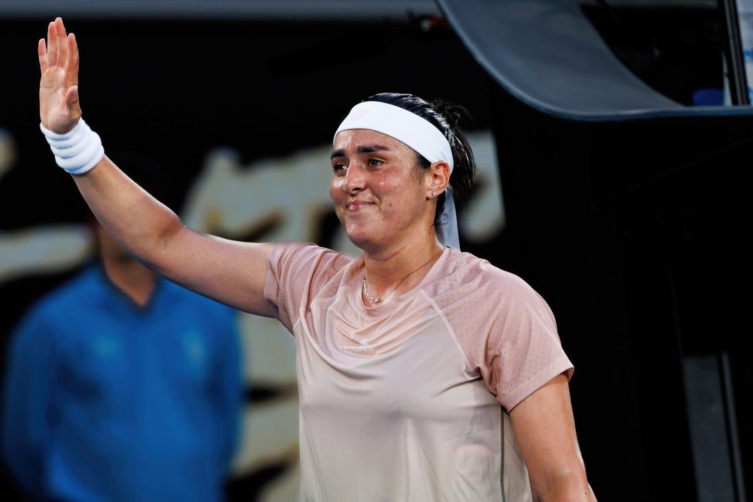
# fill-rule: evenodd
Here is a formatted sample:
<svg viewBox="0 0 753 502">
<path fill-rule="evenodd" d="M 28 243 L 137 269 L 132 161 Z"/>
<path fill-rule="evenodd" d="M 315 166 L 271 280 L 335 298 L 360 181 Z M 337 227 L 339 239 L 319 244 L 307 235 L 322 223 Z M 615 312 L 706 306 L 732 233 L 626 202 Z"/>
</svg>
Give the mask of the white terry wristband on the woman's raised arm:
<svg viewBox="0 0 753 502">
<path fill-rule="evenodd" d="M 90 129 L 81 118 L 76 126 L 65 134 L 57 134 L 39 123 L 39 129 L 47 138 L 58 166 L 72 175 L 82 175 L 105 157 L 105 148 L 99 135 Z"/>
</svg>

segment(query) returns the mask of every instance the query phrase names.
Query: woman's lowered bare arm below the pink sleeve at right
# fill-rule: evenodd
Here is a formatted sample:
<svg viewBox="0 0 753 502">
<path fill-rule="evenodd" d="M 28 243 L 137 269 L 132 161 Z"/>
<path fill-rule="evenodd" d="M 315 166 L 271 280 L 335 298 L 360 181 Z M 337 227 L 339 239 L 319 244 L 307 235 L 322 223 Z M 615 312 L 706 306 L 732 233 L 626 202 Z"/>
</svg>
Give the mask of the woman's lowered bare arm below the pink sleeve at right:
<svg viewBox="0 0 753 502">
<path fill-rule="evenodd" d="M 555 376 L 510 411 L 534 500 L 596 500 L 588 485 L 568 379 Z"/>
</svg>

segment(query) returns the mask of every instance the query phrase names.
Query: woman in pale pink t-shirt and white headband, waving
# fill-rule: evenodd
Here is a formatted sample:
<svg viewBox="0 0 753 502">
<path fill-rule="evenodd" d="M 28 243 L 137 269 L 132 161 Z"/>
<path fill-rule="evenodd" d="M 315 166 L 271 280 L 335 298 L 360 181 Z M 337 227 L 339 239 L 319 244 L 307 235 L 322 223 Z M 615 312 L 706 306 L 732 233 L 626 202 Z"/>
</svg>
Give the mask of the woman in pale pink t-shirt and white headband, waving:
<svg viewBox="0 0 753 502">
<path fill-rule="evenodd" d="M 457 248 L 454 197 L 475 171 L 464 109 L 396 93 L 352 108 L 330 188 L 363 250 L 352 258 L 184 227 L 81 119 L 78 46 L 62 20 L 38 52 L 41 129 L 108 233 L 172 281 L 295 337 L 300 500 L 596 500 L 552 312 L 521 278 Z"/>
</svg>

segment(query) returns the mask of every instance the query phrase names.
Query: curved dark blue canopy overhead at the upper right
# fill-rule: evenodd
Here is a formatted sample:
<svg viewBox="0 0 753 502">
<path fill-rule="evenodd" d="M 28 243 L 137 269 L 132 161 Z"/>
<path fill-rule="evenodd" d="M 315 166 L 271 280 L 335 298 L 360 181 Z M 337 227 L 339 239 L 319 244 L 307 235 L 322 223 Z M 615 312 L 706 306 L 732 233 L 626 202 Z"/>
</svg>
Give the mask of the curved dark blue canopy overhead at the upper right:
<svg viewBox="0 0 753 502">
<path fill-rule="evenodd" d="M 647 52 L 645 59 L 658 59 L 663 54 L 657 53 L 662 50 L 657 44 L 662 35 L 672 36 L 672 24 L 678 29 L 675 34 L 683 28 L 697 29 L 691 23 L 704 18 L 706 25 L 712 25 L 721 5 L 716 2 L 439 0 L 438 4 L 495 81 L 548 114 L 579 120 L 620 120 L 753 113 L 744 106 L 694 106 L 672 99 L 636 75 L 630 62 L 626 65 L 615 52 L 617 47 L 606 42 L 609 37 L 621 36 L 623 41 L 632 38 L 636 44 L 633 56 L 639 55 L 637 44 L 642 44 Z M 647 21 L 662 16 L 666 24 L 649 32 Z M 732 28 L 732 40 L 736 40 L 736 26 Z M 727 46 L 725 35 L 721 34 L 720 47 Z M 671 42 L 676 47 L 679 40 Z M 706 52 L 709 44 L 686 48 Z M 695 54 L 699 55 L 702 53 Z M 721 79 L 724 70 L 721 53 L 719 56 Z M 742 71 L 741 61 L 742 54 L 734 58 L 736 64 L 730 68 L 730 75 L 733 69 Z M 636 66 L 639 64 L 636 61 Z M 647 64 L 651 61 L 644 62 Z"/>
</svg>

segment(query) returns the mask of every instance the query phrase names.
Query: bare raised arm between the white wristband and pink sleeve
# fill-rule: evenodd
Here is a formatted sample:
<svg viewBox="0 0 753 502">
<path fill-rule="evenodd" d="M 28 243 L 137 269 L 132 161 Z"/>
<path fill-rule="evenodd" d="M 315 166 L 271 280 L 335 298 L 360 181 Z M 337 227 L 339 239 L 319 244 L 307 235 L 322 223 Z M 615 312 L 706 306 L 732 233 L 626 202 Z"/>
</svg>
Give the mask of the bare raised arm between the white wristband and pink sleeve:
<svg viewBox="0 0 753 502">
<path fill-rule="evenodd" d="M 102 227 L 145 266 L 236 309 L 270 315 L 264 278 L 272 245 L 221 239 L 185 227 L 175 212 L 106 156 L 74 180 Z"/>
</svg>

